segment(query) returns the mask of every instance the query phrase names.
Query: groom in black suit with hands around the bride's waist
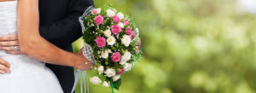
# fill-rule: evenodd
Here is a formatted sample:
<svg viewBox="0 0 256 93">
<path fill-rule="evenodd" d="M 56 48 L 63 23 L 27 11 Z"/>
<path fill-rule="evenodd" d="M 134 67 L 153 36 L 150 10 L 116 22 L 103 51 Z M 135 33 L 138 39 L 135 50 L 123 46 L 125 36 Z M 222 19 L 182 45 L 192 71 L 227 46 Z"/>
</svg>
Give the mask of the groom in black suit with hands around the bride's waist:
<svg viewBox="0 0 256 93">
<path fill-rule="evenodd" d="M 39 0 L 40 27 L 42 37 L 61 49 L 72 52 L 72 43 L 82 36 L 79 16 L 93 6 L 93 0 Z M 1 36 L 0 46 L 6 53 L 20 55 L 15 34 Z M 4 46 L 4 47 L 3 47 Z M 70 93 L 73 87 L 73 67 L 46 64 L 59 79 L 62 90 Z M 0 58 L 0 67 L 9 72 L 9 63 Z"/>
</svg>

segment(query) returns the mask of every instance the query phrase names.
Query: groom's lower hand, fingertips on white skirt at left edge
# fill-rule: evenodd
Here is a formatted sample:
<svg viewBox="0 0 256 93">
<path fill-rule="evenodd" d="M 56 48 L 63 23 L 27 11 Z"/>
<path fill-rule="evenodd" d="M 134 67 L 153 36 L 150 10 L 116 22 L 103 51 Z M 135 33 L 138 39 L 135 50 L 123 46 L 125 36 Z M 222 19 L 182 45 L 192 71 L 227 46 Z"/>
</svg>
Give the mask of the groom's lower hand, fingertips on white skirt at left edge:
<svg viewBox="0 0 256 93">
<path fill-rule="evenodd" d="M 9 63 L 0 58 L 0 74 L 10 73 L 9 67 Z"/>
</svg>

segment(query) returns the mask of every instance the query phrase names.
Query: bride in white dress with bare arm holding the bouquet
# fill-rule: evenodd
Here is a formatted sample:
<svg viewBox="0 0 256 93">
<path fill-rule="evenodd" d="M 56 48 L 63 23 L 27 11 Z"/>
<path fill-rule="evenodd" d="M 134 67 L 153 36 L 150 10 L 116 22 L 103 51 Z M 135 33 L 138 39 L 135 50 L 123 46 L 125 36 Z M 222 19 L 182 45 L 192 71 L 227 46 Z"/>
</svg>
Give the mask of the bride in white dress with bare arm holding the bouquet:
<svg viewBox="0 0 256 93">
<path fill-rule="evenodd" d="M 40 36 L 38 28 L 38 0 L 0 0 L 0 35 L 17 31 L 19 49 L 25 54 L 0 51 L 0 57 L 9 61 L 12 71 L 0 74 L 0 93 L 62 93 L 55 74 L 40 61 L 81 70 L 93 66 L 81 51 L 72 54 L 50 44 Z"/>
</svg>

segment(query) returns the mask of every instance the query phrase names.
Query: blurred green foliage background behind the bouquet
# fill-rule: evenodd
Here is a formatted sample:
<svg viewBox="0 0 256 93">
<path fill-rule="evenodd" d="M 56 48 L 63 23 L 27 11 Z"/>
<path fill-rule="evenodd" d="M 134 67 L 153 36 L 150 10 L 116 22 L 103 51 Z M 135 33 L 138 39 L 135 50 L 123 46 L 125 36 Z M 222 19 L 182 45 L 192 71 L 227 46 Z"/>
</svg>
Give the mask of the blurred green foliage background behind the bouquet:
<svg viewBox="0 0 256 93">
<path fill-rule="evenodd" d="M 94 1 L 131 15 L 143 39 L 143 58 L 115 93 L 256 92 L 256 16 L 236 0 Z M 90 84 L 90 92 L 111 90 Z"/>
</svg>

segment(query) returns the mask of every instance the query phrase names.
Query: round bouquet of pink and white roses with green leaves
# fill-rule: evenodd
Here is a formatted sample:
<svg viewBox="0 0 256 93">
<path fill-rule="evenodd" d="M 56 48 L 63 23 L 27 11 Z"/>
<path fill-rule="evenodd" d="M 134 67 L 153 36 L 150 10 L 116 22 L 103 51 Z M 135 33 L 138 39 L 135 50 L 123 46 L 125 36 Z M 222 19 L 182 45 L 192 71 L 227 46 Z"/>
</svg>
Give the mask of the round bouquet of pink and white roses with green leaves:
<svg viewBox="0 0 256 93">
<path fill-rule="evenodd" d="M 98 73 L 90 82 L 119 90 L 121 74 L 130 71 L 142 55 L 137 26 L 129 16 L 110 7 L 90 9 L 82 26 L 84 44 L 92 50 Z"/>
</svg>

